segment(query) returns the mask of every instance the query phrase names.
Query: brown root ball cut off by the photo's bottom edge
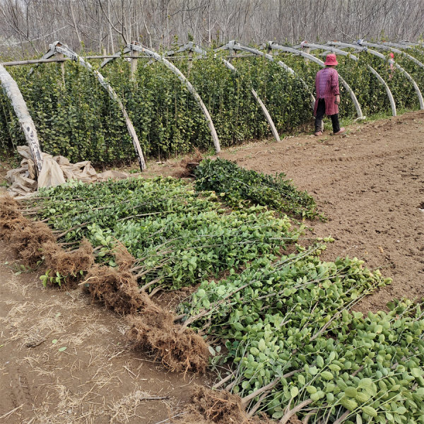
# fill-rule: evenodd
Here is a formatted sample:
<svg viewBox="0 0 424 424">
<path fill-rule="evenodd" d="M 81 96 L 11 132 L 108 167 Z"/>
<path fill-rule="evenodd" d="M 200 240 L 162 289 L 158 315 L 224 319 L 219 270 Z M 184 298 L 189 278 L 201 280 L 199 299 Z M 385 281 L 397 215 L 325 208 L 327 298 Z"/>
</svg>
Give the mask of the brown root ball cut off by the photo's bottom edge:
<svg viewBox="0 0 424 424">
<path fill-rule="evenodd" d="M 242 406 L 240 396 L 228 391 L 215 391 L 206 387 L 194 388 L 189 413 L 177 420 L 175 424 L 266 424 L 275 423 L 268 418 L 249 418 Z"/>
</svg>

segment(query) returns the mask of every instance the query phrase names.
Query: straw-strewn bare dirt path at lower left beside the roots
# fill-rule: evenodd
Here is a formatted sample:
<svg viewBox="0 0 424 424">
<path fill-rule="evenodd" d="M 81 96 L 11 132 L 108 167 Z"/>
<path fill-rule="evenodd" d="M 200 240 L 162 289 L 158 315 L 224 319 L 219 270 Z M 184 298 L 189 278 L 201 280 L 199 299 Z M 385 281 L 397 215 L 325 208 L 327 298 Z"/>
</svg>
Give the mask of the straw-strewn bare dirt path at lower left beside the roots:
<svg viewBox="0 0 424 424">
<path fill-rule="evenodd" d="M 192 376 L 134 353 L 124 319 L 81 290 L 44 289 L 8 261 L 0 245 L 0 423 L 150 424 L 181 411 Z"/>
</svg>

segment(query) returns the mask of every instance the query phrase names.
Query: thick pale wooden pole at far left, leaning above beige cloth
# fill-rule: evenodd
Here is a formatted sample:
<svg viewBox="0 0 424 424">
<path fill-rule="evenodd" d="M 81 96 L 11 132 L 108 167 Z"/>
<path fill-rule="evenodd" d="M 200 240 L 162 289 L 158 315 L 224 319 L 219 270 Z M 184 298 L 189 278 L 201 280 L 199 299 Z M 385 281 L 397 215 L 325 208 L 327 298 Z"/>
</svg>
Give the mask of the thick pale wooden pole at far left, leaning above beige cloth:
<svg viewBox="0 0 424 424">
<path fill-rule="evenodd" d="M 0 83 L 1 86 L 3 86 L 7 97 L 11 100 L 13 110 L 18 117 L 20 128 L 22 129 L 28 146 L 30 147 L 31 155 L 33 155 L 37 174 L 40 174 L 42 168 L 42 155 L 33 118 L 31 118 L 25 100 L 23 100 L 18 84 L 2 65 L 0 65 Z"/>
</svg>

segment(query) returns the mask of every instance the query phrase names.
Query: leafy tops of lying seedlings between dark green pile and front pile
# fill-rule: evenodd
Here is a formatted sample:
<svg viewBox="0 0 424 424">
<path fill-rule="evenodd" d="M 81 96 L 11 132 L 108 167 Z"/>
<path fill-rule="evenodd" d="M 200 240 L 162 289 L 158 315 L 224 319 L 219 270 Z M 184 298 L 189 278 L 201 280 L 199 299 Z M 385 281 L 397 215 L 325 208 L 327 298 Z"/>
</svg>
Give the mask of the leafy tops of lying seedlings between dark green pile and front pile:
<svg viewBox="0 0 424 424">
<path fill-rule="evenodd" d="M 275 258 L 298 240 L 286 217 L 276 218 L 262 206 L 228 212 L 215 194 L 204 195 L 172 178 L 71 182 L 40 192 L 37 218 L 65 242 L 88 238 L 98 247 L 98 261 L 111 266 L 120 240 L 142 269 L 139 282 L 152 288 L 191 285 L 259 255 Z"/>
</svg>

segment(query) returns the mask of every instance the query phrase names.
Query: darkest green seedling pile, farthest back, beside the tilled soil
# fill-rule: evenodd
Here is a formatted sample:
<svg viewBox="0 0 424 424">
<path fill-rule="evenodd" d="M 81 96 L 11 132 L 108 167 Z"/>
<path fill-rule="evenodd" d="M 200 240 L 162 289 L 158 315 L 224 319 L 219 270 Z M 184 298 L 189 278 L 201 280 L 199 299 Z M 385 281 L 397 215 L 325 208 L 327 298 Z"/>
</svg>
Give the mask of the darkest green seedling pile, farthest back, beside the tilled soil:
<svg viewBox="0 0 424 424">
<path fill-rule="evenodd" d="M 218 158 L 202 160 L 194 175 L 197 190 L 213 190 L 231 206 L 249 201 L 304 218 L 319 215 L 313 197 L 296 189 L 283 173 L 273 177 Z"/>
</svg>

